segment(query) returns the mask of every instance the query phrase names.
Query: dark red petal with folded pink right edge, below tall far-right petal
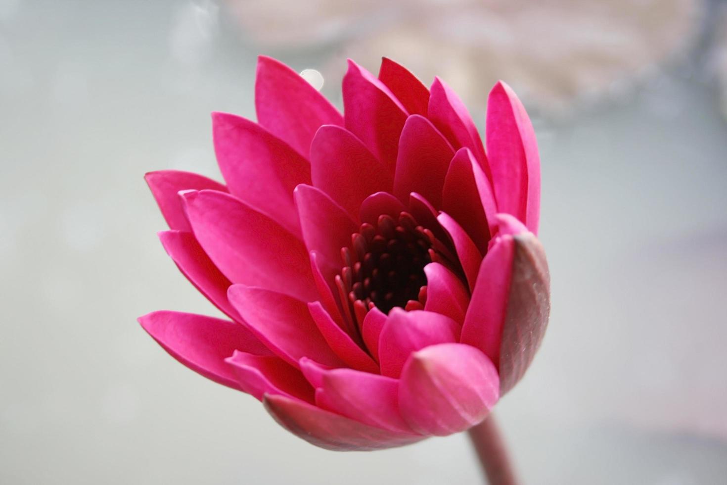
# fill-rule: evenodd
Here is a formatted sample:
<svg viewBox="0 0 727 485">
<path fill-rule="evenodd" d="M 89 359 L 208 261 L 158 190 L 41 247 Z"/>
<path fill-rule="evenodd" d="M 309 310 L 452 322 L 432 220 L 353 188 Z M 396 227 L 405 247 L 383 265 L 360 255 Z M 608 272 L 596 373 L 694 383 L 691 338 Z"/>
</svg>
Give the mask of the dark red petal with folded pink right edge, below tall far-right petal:
<svg viewBox="0 0 727 485">
<path fill-rule="evenodd" d="M 444 181 L 443 211 L 454 217 L 472 238 L 481 254 L 487 252 L 497 225 L 497 205 L 490 184 L 472 153 L 462 148 L 454 155 Z"/>
</svg>

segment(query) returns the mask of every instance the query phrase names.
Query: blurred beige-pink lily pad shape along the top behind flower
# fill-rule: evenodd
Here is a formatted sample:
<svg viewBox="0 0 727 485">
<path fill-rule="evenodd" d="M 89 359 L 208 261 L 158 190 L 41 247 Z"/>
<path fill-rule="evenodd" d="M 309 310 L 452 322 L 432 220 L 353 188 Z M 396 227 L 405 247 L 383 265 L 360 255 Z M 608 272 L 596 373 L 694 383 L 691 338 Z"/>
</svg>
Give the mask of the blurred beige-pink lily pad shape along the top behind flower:
<svg viewBox="0 0 727 485">
<path fill-rule="evenodd" d="M 366 68 L 382 55 L 425 84 L 440 76 L 470 106 L 497 79 L 551 115 L 579 100 L 619 95 L 659 65 L 686 55 L 702 19 L 699 0 L 229 0 L 260 48 L 342 43 Z M 340 77 L 340 59 L 324 76 Z"/>
</svg>

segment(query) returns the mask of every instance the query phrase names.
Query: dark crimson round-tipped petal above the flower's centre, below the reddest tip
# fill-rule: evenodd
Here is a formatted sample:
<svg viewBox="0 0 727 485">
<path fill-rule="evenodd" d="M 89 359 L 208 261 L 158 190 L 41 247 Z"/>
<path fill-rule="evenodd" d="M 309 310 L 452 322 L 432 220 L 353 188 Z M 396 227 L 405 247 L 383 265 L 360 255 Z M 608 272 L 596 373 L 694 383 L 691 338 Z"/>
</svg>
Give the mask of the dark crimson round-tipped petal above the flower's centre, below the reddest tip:
<svg viewBox="0 0 727 485">
<path fill-rule="evenodd" d="M 409 116 L 399 139 L 394 195 L 406 203 L 409 193 L 417 192 L 441 208 L 444 177 L 452 156 L 454 150 L 431 121 Z"/>
</svg>

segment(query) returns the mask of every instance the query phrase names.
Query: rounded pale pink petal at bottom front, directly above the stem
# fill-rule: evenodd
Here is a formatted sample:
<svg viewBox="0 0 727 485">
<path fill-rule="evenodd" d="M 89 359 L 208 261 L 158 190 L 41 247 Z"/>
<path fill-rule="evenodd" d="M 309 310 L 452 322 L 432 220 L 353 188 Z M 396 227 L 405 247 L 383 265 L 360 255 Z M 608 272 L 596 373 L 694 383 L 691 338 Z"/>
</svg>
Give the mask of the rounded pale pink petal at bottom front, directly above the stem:
<svg viewBox="0 0 727 485">
<path fill-rule="evenodd" d="M 422 434 L 464 431 L 485 419 L 498 398 L 497 369 L 469 345 L 445 343 L 419 350 L 401 372 L 401 414 Z"/>
</svg>

